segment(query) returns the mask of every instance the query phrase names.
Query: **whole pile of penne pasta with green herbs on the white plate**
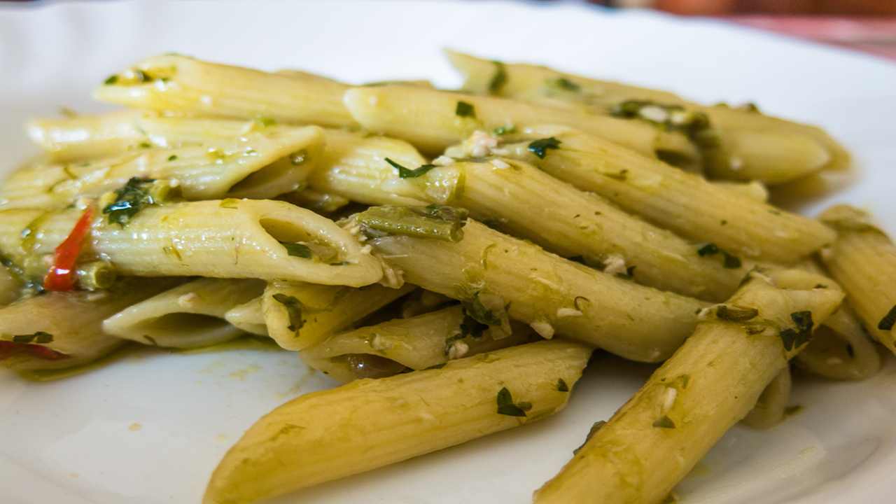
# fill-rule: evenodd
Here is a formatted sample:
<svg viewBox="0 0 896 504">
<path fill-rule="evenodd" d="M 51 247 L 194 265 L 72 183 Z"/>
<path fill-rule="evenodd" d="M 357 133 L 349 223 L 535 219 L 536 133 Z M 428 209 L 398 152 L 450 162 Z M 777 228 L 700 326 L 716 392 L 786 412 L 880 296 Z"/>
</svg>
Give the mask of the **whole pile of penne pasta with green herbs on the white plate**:
<svg viewBox="0 0 896 504">
<path fill-rule="evenodd" d="M 896 350 L 892 241 L 767 202 L 848 169 L 819 128 L 449 56 L 462 91 L 157 56 L 95 91 L 124 109 L 32 121 L 44 153 L 0 187 L 0 362 L 254 335 L 345 382 L 247 430 L 210 504 L 558 413 L 595 349 L 662 362 L 534 496 L 606 504 L 780 421 L 791 361 L 855 380 Z"/>
</svg>

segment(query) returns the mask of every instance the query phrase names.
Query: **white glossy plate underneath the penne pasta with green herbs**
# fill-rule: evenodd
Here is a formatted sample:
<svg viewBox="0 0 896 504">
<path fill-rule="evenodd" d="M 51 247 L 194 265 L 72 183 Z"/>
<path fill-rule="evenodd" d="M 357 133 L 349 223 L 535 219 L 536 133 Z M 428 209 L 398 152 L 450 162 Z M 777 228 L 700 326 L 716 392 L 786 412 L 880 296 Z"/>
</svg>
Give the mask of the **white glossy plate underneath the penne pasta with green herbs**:
<svg viewBox="0 0 896 504">
<path fill-rule="evenodd" d="M 102 109 L 90 89 L 143 56 L 177 51 L 352 82 L 459 83 L 440 55 L 509 61 L 678 91 L 755 100 L 820 124 L 862 178 L 834 196 L 896 231 L 896 66 L 720 22 L 580 4 L 244 1 L 0 7 L 0 170 L 34 149 L 30 116 Z M 812 211 L 815 208 L 810 208 Z M 279 502 L 527 502 L 650 367 L 602 357 L 554 418 L 297 493 Z M 0 502 L 198 502 L 241 432 L 274 406 L 332 385 L 286 352 L 150 353 L 69 380 L 0 374 Z M 768 432 L 737 427 L 681 487 L 696 503 L 892 502 L 896 365 L 866 382 L 797 381 L 803 413 Z"/>
</svg>

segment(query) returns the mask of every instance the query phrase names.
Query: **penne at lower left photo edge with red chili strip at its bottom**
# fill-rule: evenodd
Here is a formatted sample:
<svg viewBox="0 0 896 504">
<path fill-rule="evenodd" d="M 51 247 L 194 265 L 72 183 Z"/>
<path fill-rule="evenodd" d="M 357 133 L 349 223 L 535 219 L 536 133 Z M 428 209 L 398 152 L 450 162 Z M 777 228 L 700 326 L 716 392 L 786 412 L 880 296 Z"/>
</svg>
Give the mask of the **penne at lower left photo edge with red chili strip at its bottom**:
<svg viewBox="0 0 896 504">
<path fill-rule="evenodd" d="M 125 343 L 103 332 L 103 319 L 175 283 L 128 279 L 108 291 L 48 292 L 0 308 L 0 365 L 30 371 L 96 361 Z"/>
</svg>

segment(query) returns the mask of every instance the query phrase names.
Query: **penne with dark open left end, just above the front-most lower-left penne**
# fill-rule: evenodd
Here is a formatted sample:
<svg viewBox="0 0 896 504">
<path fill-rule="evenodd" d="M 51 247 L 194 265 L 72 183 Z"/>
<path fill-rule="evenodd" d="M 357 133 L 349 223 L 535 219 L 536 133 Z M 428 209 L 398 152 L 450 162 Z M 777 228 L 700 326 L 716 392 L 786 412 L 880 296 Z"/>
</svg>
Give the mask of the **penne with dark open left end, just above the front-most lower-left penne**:
<svg viewBox="0 0 896 504">
<path fill-rule="evenodd" d="M 312 368 L 345 383 L 442 366 L 454 359 L 529 343 L 534 341 L 533 335 L 528 326 L 516 324 L 513 335 L 495 339 L 488 326 L 453 306 L 332 335 L 299 356 Z"/>
</svg>

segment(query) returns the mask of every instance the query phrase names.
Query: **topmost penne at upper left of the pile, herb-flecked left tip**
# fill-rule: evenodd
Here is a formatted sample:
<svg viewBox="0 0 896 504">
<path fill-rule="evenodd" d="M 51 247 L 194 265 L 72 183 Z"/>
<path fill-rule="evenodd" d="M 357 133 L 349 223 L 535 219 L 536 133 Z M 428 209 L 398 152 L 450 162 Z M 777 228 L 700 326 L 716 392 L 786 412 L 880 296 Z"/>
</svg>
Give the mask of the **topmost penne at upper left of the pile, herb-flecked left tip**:
<svg viewBox="0 0 896 504">
<path fill-rule="evenodd" d="M 154 56 L 110 76 L 94 98 L 135 109 L 285 123 L 356 126 L 342 105 L 345 84 L 268 74 L 187 56 Z"/>
</svg>

